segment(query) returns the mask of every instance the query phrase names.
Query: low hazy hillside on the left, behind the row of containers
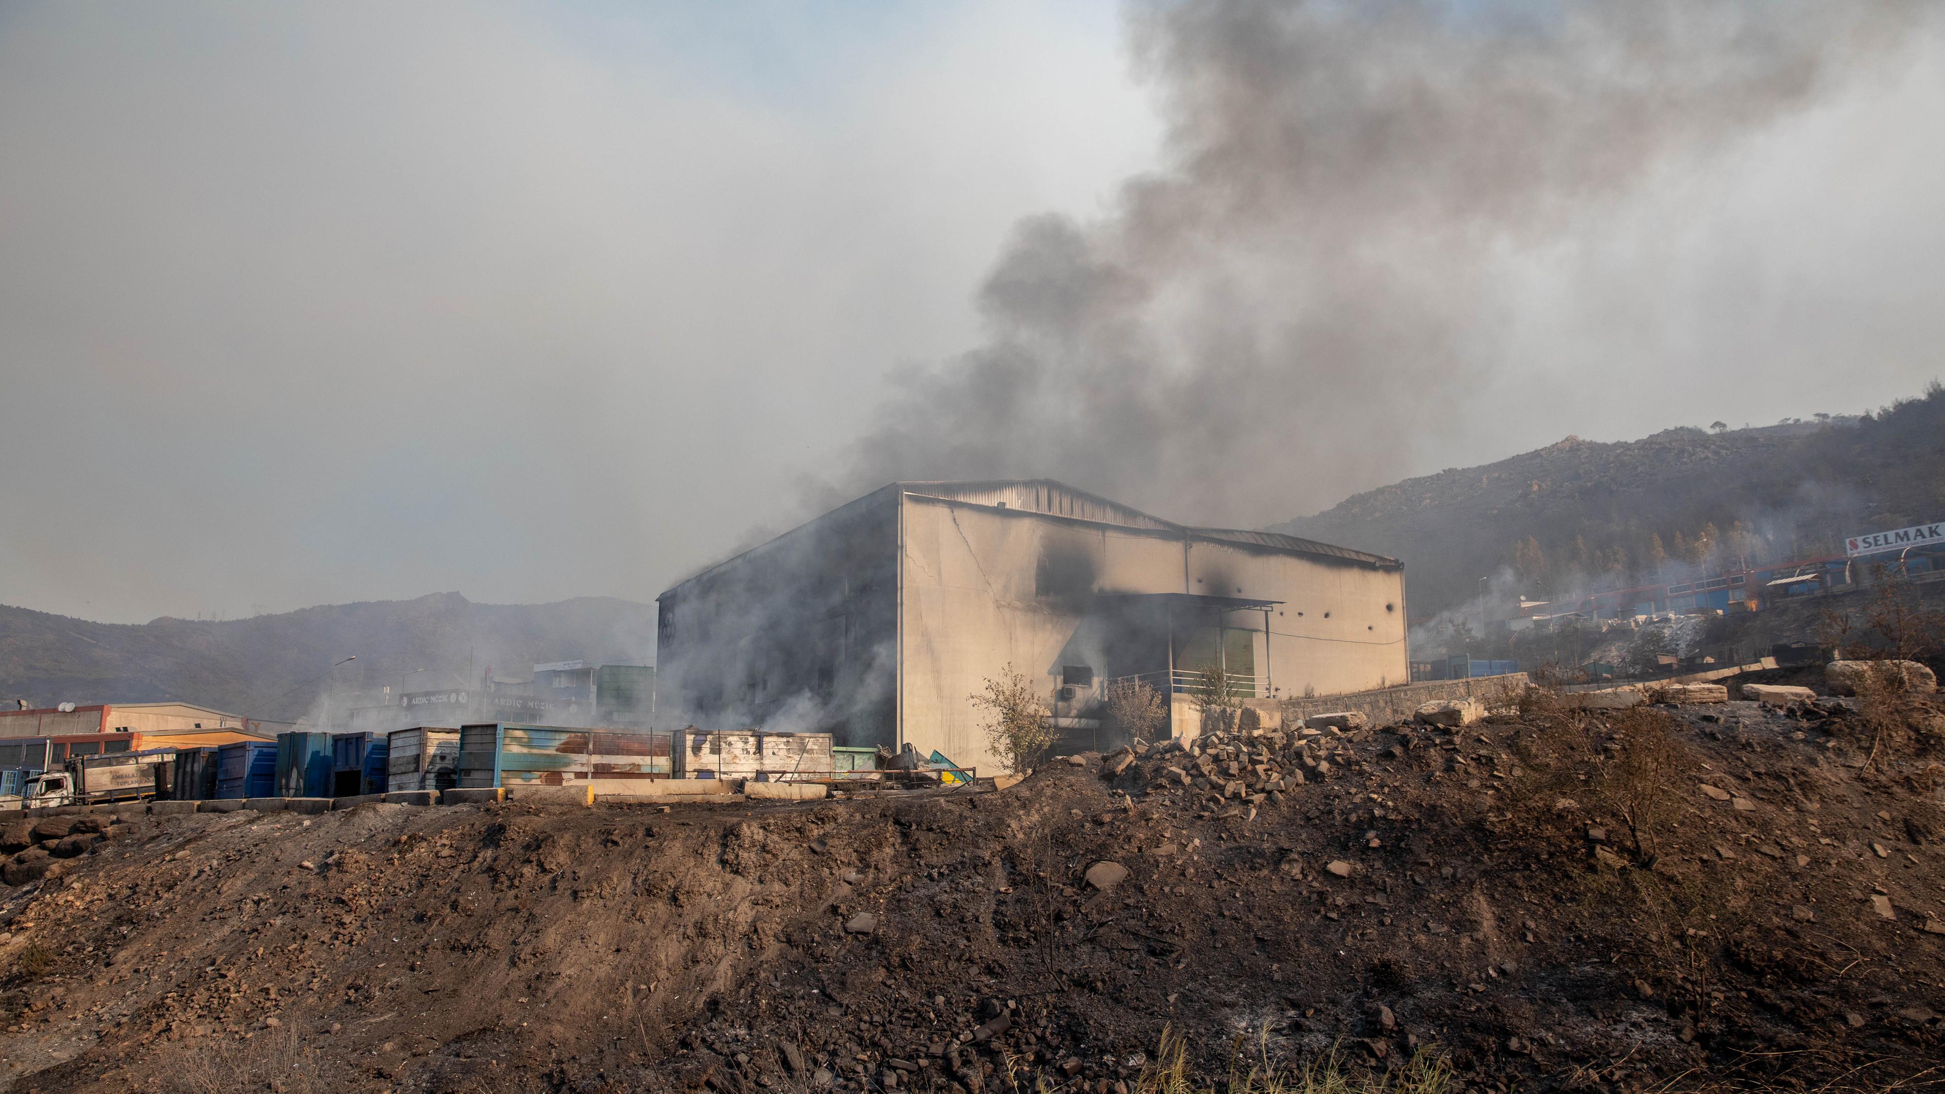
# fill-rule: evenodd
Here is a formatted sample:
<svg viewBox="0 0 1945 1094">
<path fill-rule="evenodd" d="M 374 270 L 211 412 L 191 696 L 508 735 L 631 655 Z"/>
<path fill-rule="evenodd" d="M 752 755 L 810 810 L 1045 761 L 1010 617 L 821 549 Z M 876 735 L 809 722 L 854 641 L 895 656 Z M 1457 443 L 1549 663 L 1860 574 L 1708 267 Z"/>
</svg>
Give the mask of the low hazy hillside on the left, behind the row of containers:
<svg viewBox="0 0 1945 1094">
<path fill-rule="evenodd" d="M 488 666 L 525 672 L 570 658 L 650 660 L 654 650 L 655 607 L 613 598 L 510 605 L 443 592 L 222 623 L 161 617 L 138 625 L 0 607 L 0 699 L 179 699 L 292 720 L 323 687 L 305 681 L 346 656 L 358 660 L 329 683 L 418 691 L 467 683 Z"/>
</svg>

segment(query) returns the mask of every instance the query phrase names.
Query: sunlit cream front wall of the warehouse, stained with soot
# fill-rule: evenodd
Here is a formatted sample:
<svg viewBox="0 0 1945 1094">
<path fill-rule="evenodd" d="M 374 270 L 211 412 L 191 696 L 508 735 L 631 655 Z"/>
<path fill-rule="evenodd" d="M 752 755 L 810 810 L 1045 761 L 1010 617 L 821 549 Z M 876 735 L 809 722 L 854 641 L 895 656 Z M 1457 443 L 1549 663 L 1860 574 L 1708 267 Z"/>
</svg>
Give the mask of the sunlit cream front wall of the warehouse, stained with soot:
<svg viewBox="0 0 1945 1094">
<path fill-rule="evenodd" d="M 1142 529 L 1083 526 L 1021 510 L 906 496 L 901 506 L 901 734 L 920 755 L 998 773 L 972 695 L 1011 662 L 1052 701 L 1062 664 L 1091 664 L 1097 637 L 1083 598 L 1043 596 L 1037 572 L 1052 545 L 1089 574 L 1085 592 L 1243 596 L 1272 609 L 1256 674 L 1278 695 L 1362 691 L 1410 679 L 1404 576 Z M 1260 611 L 1229 619 L 1262 629 Z M 1268 654 L 1268 660 L 1264 658 Z"/>
</svg>

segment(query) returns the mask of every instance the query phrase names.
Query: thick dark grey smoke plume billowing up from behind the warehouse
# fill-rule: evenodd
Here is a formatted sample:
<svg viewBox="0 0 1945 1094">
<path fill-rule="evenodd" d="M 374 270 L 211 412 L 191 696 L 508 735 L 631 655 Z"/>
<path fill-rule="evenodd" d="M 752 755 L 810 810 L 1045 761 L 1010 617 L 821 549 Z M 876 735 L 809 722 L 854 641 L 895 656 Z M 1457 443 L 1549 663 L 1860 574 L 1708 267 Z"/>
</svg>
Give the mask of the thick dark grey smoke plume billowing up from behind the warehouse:
<svg viewBox="0 0 1945 1094">
<path fill-rule="evenodd" d="M 1138 6 L 1167 167 L 1103 222 L 1017 226 L 978 294 L 988 341 L 899 378 L 852 487 L 1050 475 L 1266 524 L 1393 477 L 1476 428 L 1509 356 L 1585 366 L 1587 329 L 1519 337 L 1537 271 L 1653 232 L 1634 197 L 1896 68 L 1918 12 Z"/>
</svg>

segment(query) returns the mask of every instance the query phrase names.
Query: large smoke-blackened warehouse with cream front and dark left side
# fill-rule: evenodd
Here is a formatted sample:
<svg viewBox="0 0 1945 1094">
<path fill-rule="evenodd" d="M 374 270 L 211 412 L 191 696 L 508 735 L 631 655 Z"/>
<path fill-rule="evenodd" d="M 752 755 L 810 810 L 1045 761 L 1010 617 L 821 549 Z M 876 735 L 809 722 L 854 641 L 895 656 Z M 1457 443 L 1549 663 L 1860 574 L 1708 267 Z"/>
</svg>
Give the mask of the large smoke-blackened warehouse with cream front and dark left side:
<svg viewBox="0 0 1945 1094">
<path fill-rule="evenodd" d="M 1035 481 L 893 483 L 657 598 L 661 724 L 831 732 L 992 771 L 971 703 L 1011 664 L 1085 746 L 1144 677 L 1192 732 L 1221 666 L 1274 701 L 1404 683 L 1404 568 L 1291 535 L 1188 528 Z"/>
</svg>

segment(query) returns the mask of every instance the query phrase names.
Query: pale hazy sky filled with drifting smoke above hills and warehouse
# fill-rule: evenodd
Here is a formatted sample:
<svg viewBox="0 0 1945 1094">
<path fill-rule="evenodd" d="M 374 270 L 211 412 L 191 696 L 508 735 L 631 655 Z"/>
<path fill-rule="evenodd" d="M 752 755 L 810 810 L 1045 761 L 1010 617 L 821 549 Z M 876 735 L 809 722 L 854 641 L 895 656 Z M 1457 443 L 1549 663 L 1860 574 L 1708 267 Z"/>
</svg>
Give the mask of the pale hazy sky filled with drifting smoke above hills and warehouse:
<svg viewBox="0 0 1945 1094">
<path fill-rule="evenodd" d="M 1270 524 L 1945 372 L 1937 19 L 1813 39 L 1778 8 L 1780 43 L 1677 21 L 1616 58 L 1601 19 L 1278 8 L 0 4 L 0 602 L 652 600 L 881 469 Z M 1418 134 L 1437 169 L 1346 140 L 1412 123 L 1414 49 L 1472 127 Z M 1513 183 L 1455 201 L 1486 154 Z M 1037 302 L 1078 265 L 1114 304 L 1068 368 Z M 1056 397 L 1186 376 L 1142 411 L 1200 432 L 1144 450 L 1247 430 L 1258 471 L 1122 481 L 1095 432 L 982 452 L 961 403 L 996 354 L 1068 368 Z"/>
</svg>

